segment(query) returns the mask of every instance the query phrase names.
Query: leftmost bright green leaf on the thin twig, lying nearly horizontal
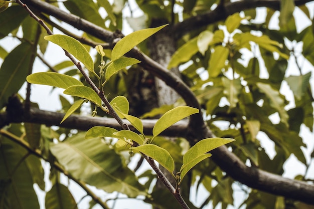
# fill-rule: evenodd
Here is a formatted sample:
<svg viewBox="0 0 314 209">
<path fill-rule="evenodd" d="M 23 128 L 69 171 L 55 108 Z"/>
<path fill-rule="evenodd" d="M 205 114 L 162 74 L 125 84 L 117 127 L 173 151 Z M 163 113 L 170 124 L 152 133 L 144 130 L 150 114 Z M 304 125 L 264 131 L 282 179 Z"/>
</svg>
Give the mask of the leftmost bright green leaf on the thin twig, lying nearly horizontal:
<svg viewBox="0 0 314 209">
<path fill-rule="evenodd" d="M 26 80 L 31 84 L 55 86 L 61 89 L 67 89 L 70 86 L 83 86 L 82 82 L 71 76 L 52 72 L 33 73 Z"/>
</svg>

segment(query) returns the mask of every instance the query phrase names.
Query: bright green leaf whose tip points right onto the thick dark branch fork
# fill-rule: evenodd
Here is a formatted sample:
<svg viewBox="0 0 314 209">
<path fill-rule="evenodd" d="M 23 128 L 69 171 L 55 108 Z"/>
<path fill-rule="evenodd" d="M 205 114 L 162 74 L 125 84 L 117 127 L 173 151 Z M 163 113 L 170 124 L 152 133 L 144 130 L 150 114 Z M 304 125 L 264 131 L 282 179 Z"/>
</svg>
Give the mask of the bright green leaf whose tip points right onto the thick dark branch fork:
<svg viewBox="0 0 314 209">
<path fill-rule="evenodd" d="M 153 137 L 158 136 L 161 132 L 192 114 L 199 113 L 199 110 L 189 106 L 179 106 L 166 112 L 154 125 L 152 129 Z"/>
</svg>

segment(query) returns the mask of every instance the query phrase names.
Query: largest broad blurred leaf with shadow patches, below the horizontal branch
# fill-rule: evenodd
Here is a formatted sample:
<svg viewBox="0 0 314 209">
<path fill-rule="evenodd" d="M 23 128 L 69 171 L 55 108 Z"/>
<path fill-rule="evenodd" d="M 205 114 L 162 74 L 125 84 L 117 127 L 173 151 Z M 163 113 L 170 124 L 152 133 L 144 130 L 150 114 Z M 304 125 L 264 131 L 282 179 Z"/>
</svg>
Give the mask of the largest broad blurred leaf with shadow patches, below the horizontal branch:
<svg viewBox="0 0 314 209">
<path fill-rule="evenodd" d="M 50 146 L 52 154 L 74 178 L 106 192 L 119 191 L 129 197 L 146 195 L 119 154 L 100 138 L 85 140 L 84 135 L 79 133 Z"/>
</svg>

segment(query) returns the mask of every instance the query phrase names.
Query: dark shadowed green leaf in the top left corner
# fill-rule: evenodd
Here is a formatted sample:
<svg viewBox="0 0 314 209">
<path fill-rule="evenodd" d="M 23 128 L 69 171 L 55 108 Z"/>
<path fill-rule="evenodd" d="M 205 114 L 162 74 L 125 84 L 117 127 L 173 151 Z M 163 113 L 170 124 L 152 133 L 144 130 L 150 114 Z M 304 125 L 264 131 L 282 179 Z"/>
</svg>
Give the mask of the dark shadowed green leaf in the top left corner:
<svg viewBox="0 0 314 209">
<path fill-rule="evenodd" d="M 21 6 L 12 6 L 2 12 L 0 15 L 0 39 L 18 28 L 27 16 L 28 13 Z"/>
</svg>

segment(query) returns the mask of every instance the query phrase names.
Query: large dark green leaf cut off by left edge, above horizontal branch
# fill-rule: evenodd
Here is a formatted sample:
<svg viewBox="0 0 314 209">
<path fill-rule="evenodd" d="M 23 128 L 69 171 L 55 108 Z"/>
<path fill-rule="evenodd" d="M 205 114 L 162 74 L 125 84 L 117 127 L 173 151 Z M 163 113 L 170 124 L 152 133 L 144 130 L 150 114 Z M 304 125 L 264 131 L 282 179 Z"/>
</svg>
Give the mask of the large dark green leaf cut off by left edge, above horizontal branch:
<svg viewBox="0 0 314 209">
<path fill-rule="evenodd" d="M 0 16 L 1 17 L 1 16 Z M 32 45 L 27 42 L 17 46 L 0 68 L 0 109 L 8 98 L 17 93 L 25 82 L 32 58 Z"/>
</svg>

